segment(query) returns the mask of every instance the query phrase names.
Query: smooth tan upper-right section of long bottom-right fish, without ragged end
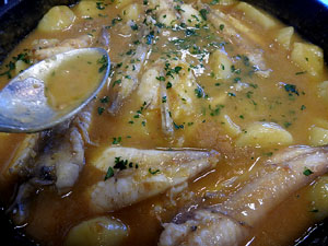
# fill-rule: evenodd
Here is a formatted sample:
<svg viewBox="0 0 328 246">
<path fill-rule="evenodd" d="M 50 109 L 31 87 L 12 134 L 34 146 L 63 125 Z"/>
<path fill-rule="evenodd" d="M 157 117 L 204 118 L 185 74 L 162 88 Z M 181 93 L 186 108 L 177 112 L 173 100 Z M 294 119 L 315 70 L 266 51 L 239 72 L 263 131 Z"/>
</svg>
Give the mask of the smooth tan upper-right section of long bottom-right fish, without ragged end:
<svg viewBox="0 0 328 246">
<path fill-rule="evenodd" d="M 327 172 L 327 148 L 286 148 L 268 160 L 256 178 L 218 210 L 254 226 L 293 192 Z"/>
</svg>

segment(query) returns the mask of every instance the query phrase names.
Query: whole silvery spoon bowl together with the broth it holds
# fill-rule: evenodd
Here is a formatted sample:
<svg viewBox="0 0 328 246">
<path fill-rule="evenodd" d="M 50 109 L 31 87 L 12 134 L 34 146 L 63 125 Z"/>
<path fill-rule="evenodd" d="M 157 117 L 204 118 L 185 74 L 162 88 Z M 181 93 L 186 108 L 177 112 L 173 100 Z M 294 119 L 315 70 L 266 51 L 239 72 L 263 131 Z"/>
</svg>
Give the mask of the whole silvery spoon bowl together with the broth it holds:
<svg viewBox="0 0 328 246">
<path fill-rule="evenodd" d="M 105 49 L 83 48 L 24 70 L 0 92 L 0 131 L 36 132 L 69 119 L 101 91 L 109 68 Z"/>
</svg>

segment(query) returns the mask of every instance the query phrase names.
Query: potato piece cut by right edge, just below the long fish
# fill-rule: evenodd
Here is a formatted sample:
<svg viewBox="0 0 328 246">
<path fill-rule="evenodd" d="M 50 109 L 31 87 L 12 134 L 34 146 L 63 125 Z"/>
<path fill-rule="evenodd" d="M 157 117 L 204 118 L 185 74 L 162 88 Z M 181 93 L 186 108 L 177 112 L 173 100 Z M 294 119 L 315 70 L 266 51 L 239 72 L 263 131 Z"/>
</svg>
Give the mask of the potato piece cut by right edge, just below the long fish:
<svg viewBox="0 0 328 246">
<path fill-rule="evenodd" d="M 313 212 L 318 220 L 328 215 L 328 175 L 319 177 L 309 190 L 309 199 L 313 201 Z"/>
</svg>

